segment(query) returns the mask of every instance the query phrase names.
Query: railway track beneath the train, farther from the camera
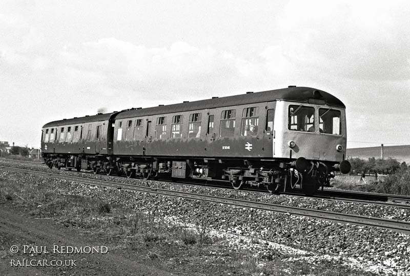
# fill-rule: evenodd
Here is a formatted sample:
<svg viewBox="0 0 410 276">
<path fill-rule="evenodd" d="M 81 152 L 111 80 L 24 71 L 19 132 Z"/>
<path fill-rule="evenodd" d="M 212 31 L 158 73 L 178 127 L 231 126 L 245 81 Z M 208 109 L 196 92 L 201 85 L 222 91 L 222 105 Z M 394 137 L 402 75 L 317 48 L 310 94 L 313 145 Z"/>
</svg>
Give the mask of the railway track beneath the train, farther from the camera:
<svg viewBox="0 0 410 276">
<path fill-rule="evenodd" d="M 29 165 L 29 164 L 21 164 L 21 163 L 9 163 L 0 161 L 0 163 L 9 164 L 9 165 L 17 165 L 17 166 L 26 166 L 26 167 L 33 167 L 33 168 L 42 168 L 50 170 L 47 166 L 41 165 Z M 3 166 L 0 166 L 3 167 Z M 64 170 L 67 171 L 67 170 Z M 81 171 L 81 173 L 90 173 Z M 111 175 L 111 177 L 120 177 Z M 136 178 L 138 180 L 138 178 Z M 156 180 L 160 182 L 173 182 L 172 180 Z M 190 185 L 190 186 L 206 186 L 211 188 L 218 188 L 218 189 L 232 189 L 232 186 L 228 181 L 209 181 L 207 179 L 198 179 L 199 182 L 189 182 L 189 181 L 177 181 L 173 182 L 178 185 Z M 255 193 L 268 193 L 265 190 L 261 189 L 252 189 L 252 188 L 245 188 L 243 191 L 255 192 Z M 297 193 L 297 192 L 281 192 L 284 195 L 292 195 L 292 196 L 299 196 L 299 197 L 307 197 L 304 194 Z M 355 191 L 345 191 L 345 190 L 334 190 L 334 189 L 324 189 L 319 190 L 317 194 L 313 196 L 309 196 L 311 198 L 317 199 L 326 199 L 326 200 L 341 200 L 345 202 L 352 202 L 352 203 L 360 203 L 360 204 L 377 204 L 377 205 L 384 205 L 384 206 L 391 206 L 395 208 L 401 209 L 408 209 L 410 210 L 410 196 L 402 196 L 402 195 L 392 195 L 392 194 L 377 194 L 377 193 L 367 193 L 367 192 L 355 192 Z M 406 204 L 407 203 L 407 204 Z"/>
</svg>

